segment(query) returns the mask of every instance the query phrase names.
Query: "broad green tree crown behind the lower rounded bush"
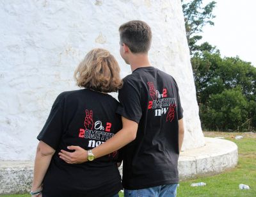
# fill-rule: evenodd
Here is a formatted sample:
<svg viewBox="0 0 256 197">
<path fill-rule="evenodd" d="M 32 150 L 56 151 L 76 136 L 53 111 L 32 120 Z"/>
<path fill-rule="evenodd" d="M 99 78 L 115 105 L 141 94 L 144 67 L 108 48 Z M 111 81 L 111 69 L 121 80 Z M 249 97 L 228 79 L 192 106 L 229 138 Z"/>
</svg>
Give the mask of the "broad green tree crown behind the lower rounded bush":
<svg viewBox="0 0 256 197">
<path fill-rule="evenodd" d="M 256 68 L 236 58 L 221 58 L 220 53 L 203 52 L 191 58 L 199 103 L 205 104 L 209 95 L 241 86 L 248 101 L 256 100 Z"/>
</svg>

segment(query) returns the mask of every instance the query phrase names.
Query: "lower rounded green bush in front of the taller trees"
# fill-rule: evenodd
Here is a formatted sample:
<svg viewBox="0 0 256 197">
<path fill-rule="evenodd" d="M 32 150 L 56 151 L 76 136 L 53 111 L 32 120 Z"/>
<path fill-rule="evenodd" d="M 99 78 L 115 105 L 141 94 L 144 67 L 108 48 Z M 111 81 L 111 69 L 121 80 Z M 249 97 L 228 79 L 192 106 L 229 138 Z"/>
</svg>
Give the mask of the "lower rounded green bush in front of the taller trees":
<svg viewBox="0 0 256 197">
<path fill-rule="evenodd" d="M 204 127 L 214 130 L 248 130 L 248 102 L 240 88 L 211 95 L 200 115 Z"/>
</svg>

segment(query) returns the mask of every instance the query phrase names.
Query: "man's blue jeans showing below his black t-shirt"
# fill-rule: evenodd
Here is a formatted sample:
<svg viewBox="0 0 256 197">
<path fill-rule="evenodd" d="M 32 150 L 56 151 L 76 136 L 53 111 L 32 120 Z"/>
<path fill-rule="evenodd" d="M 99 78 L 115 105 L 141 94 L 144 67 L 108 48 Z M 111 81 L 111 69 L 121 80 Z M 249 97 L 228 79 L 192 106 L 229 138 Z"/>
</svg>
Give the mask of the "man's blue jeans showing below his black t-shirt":
<svg viewBox="0 0 256 197">
<path fill-rule="evenodd" d="M 178 184 L 159 185 L 137 190 L 124 190 L 125 197 L 175 197 Z"/>
</svg>

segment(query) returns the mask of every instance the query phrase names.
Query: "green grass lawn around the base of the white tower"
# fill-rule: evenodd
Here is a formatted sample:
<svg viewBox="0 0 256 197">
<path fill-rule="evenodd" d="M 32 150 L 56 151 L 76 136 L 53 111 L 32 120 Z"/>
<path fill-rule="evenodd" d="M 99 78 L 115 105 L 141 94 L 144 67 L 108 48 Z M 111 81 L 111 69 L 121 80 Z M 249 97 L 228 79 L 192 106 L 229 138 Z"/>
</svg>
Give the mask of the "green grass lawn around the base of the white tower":
<svg viewBox="0 0 256 197">
<path fill-rule="evenodd" d="M 236 140 L 235 136 L 243 136 Z M 180 182 L 177 196 L 256 196 L 256 134 L 255 133 L 227 133 L 204 132 L 205 137 L 224 137 L 238 146 L 239 160 L 236 168 L 211 177 L 197 177 L 193 180 Z M 205 182 L 202 187 L 190 187 L 192 183 Z M 239 184 L 250 186 L 250 190 L 241 190 Z M 3 197 L 29 197 L 29 194 L 0 195 Z M 124 194 L 120 193 L 120 197 Z"/>
</svg>

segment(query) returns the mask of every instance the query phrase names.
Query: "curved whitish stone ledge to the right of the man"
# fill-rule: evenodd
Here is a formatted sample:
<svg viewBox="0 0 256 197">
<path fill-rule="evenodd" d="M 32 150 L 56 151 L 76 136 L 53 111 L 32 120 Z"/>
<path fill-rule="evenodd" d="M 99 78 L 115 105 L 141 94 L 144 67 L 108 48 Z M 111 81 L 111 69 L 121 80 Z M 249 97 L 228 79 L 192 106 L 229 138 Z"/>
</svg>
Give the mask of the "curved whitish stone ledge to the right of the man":
<svg viewBox="0 0 256 197">
<path fill-rule="evenodd" d="M 237 165 L 237 145 L 232 141 L 205 138 L 205 146 L 181 152 L 180 180 L 198 175 L 213 175 Z"/>
</svg>

